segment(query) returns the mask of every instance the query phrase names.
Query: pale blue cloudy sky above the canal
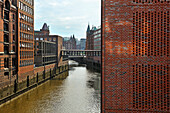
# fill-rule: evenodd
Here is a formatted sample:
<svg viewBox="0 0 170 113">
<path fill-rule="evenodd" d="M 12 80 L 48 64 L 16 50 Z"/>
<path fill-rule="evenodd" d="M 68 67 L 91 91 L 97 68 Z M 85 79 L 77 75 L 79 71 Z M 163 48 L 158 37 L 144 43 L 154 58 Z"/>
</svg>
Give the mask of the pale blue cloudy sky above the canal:
<svg viewBox="0 0 170 113">
<path fill-rule="evenodd" d="M 35 0 L 35 30 L 44 23 L 51 35 L 86 38 L 88 23 L 101 25 L 101 0 Z"/>
</svg>

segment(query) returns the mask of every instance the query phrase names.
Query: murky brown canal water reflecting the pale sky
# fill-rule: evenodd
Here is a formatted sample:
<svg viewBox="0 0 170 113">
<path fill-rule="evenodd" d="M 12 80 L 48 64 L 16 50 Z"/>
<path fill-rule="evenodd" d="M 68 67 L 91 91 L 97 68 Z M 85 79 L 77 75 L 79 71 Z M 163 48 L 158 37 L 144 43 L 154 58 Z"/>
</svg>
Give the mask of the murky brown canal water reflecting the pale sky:
<svg viewBox="0 0 170 113">
<path fill-rule="evenodd" d="M 69 61 L 69 76 L 53 79 L 0 107 L 0 113 L 99 113 L 101 75 Z"/>
</svg>

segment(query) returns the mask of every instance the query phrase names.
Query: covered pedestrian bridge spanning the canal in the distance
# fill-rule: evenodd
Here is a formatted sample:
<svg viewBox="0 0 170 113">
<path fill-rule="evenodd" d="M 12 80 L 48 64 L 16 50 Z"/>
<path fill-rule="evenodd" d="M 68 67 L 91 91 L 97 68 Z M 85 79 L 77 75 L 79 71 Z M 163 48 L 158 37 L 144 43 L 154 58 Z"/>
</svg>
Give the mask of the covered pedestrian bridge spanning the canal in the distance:
<svg viewBox="0 0 170 113">
<path fill-rule="evenodd" d="M 61 52 L 62 52 L 62 56 L 68 56 L 68 57 L 101 56 L 100 50 L 62 49 Z"/>
</svg>

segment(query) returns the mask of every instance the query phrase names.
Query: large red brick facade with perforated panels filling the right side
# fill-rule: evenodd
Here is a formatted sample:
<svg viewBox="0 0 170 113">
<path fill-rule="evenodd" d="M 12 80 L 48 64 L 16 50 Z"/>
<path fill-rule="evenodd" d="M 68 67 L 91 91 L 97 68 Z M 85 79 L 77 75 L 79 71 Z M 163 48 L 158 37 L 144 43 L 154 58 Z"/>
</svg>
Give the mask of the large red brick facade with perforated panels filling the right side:
<svg viewBox="0 0 170 113">
<path fill-rule="evenodd" d="M 102 1 L 102 111 L 170 112 L 168 0 Z"/>
</svg>

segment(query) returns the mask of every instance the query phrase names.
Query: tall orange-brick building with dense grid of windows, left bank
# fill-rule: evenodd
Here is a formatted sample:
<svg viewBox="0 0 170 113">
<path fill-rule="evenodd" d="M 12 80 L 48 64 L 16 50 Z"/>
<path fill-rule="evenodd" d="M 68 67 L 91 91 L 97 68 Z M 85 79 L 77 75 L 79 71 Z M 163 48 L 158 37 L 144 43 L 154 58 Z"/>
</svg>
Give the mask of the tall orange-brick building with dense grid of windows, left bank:
<svg viewBox="0 0 170 113">
<path fill-rule="evenodd" d="M 34 0 L 17 0 L 18 78 L 34 74 Z"/>
</svg>

